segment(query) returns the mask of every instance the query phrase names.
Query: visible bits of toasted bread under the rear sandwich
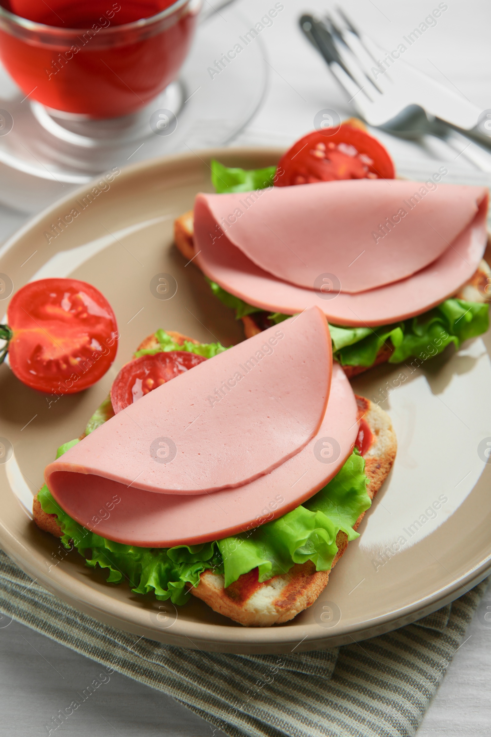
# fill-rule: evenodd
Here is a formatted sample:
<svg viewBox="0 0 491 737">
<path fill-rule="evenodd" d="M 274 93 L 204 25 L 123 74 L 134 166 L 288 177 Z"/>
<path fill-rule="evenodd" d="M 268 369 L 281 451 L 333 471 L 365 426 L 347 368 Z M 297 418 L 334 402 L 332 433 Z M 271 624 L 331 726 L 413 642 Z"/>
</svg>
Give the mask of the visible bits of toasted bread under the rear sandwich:
<svg viewBox="0 0 491 737">
<path fill-rule="evenodd" d="M 356 118 L 350 119 L 356 120 Z M 346 121 L 348 122 L 348 121 Z M 354 125 L 350 122 L 349 125 Z M 183 215 L 174 220 L 174 240 L 177 248 L 183 254 L 183 256 L 191 260 L 194 255 L 194 214 L 192 210 L 185 212 Z M 489 302 L 491 301 L 491 268 L 487 265 L 484 259 L 481 259 L 480 264 L 473 276 L 470 277 L 469 281 L 460 288 L 456 294 L 459 299 L 467 299 L 471 302 Z M 246 338 L 252 338 L 253 335 L 258 335 L 259 332 L 266 329 L 266 312 L 253 312 L 252 315 L 246 315 L 241 318 L 244 324 L 244 335 Z M 375 361 L 371 366 L 342 366 L 348 379 L 351 379 L 358 374 L 363 374 L 364 371 L 368 371 L 373 366 L 378 366 L 379 363 L 385 363 L 389 360 L 392 351 L 394 349 L 391 346 L 382 346 L 379 350 Z"/>
</svg>

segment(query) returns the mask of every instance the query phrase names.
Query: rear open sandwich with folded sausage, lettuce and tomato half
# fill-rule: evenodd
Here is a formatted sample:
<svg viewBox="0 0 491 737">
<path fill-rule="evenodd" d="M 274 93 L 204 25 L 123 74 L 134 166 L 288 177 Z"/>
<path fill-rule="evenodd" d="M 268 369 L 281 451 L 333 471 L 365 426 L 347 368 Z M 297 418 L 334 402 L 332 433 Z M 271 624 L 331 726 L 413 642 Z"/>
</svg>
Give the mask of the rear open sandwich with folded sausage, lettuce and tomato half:
<svg viewBox="0 0 491 737">
<path fill-rule="evenodd" d="M 353 125 L 305 136 L 277 167 L 211 168 L 216 194 L 197 195 L 175 242 L 246 337 L 316 305 L 351 377 L 487 330 L 486 188 L 445 184 L 445 167 L 397 179 Z"/>
</svg>

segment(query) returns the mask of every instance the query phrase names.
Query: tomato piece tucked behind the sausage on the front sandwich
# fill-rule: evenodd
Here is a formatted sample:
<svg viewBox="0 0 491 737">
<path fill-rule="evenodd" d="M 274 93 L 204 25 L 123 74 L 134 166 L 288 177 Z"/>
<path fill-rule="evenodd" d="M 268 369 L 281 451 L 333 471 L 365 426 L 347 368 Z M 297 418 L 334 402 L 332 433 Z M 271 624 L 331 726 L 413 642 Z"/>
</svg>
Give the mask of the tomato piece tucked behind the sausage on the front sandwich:
<svg viewBox="0 0 491 737">
<path fill-rule="evenodd" d="M 188 351 L 168 351 L 135 358 L 121 368 L 113 381 L 111 402 L 115 413 L 205 360 L 204 356 Z"/>
</svg>

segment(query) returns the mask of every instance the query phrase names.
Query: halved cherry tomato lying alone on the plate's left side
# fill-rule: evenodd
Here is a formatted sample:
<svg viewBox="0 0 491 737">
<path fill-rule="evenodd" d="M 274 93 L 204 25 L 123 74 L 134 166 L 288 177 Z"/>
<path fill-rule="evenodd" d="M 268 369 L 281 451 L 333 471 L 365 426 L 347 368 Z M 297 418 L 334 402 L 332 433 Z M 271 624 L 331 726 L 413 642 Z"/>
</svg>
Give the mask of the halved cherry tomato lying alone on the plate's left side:
<svg viewBox="0 0 491 737">
<path fill-rule="evenodd" d="M 24 384 L 75 394 L 104 376 L 116 357 L 118 326 L 102 294 L 78 279 L 40 279 L 21 287 L 4 326 L 9 363 Z"/>
</svg>

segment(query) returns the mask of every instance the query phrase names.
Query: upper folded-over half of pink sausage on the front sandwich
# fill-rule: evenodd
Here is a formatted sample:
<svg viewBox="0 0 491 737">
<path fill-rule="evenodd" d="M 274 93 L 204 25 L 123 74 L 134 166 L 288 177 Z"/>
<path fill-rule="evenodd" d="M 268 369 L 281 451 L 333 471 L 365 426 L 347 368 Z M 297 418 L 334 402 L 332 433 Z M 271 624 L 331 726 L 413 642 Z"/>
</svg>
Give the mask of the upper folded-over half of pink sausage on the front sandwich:
<svg viewBox="0 0 491 737">
<path fill-rule="evenodd" d="M 242 486 L 317 433 L 331 368 L 328 326 L 314 307 L 138 399 L 49 464 L 46 483 L 57 499 L 74 475 L 87 491 L 94 476 L 163 494 Z"/>
</svg>

